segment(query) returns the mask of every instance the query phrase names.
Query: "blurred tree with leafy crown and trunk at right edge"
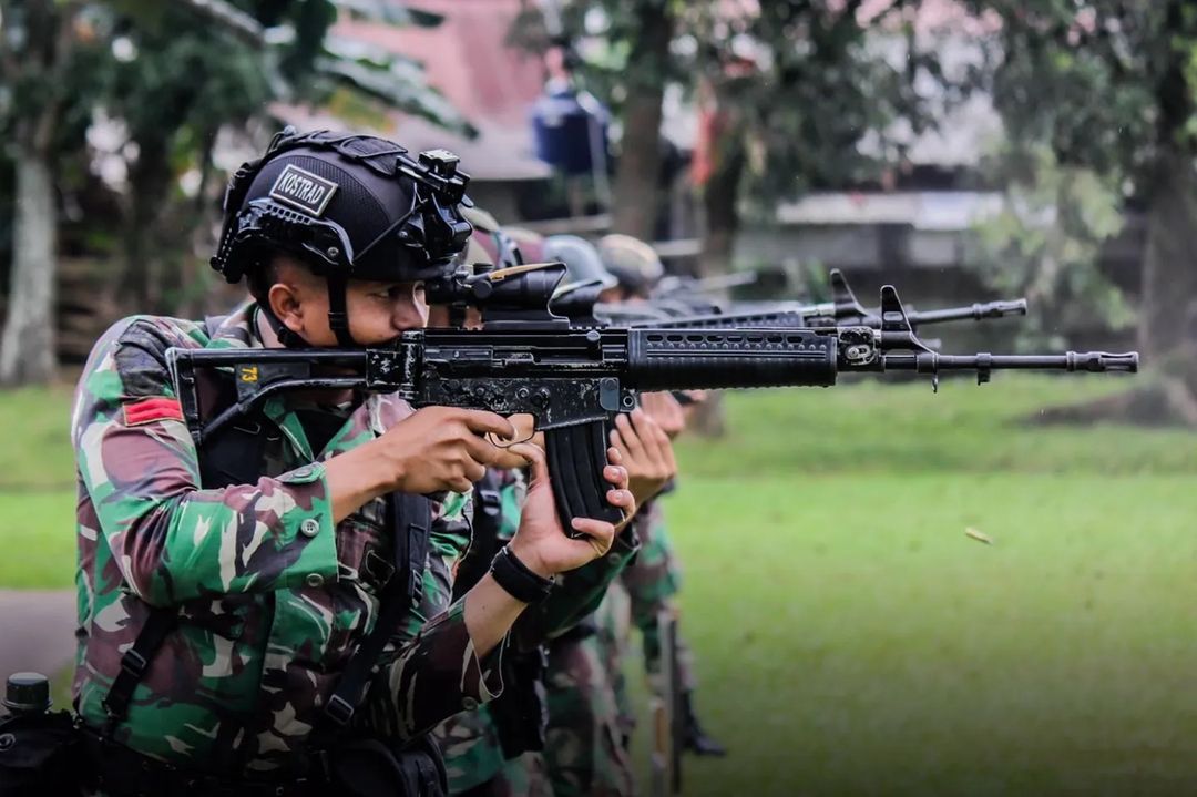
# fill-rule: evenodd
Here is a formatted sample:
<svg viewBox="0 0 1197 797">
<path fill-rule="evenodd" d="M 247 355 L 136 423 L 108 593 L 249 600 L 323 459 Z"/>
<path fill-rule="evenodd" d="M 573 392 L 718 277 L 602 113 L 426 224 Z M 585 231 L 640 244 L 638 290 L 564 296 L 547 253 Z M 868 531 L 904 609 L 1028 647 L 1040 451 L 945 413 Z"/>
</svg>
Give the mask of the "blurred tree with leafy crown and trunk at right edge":
<svg viewBox="0 0 1197 797">
<path fill-rule="evenodd" d="M 985 87 L 1011 141 L 1043 142 L 1146 208 L 1138 345 L 1197 396 L 1197 6 L 973 0 L 997 14 Z"/>
</svg>

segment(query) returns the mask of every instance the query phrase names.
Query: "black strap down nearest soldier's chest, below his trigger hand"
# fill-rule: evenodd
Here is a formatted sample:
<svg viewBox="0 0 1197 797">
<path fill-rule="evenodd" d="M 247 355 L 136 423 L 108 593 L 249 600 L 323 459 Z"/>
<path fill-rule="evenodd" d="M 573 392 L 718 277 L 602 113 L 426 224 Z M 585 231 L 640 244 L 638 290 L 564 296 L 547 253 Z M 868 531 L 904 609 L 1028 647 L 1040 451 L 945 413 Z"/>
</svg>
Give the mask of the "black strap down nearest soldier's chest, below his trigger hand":
<svg viewBox="0 0 1197 797">
<path fill-rule="evenodd" d="M 324 706 L 326 717 L 344 728 L 365 698 L 366 686 L 387 643 L 399 629 L 412 604 L 423 597 L 424 567 L 432 530 L 432 503 L 423 495 L 391 493 L 388 510 L 394 518 L 395 574 L 382 592 L 382 608 L 373 629 L 350 657 L 336 689 Z"/>
</svg>

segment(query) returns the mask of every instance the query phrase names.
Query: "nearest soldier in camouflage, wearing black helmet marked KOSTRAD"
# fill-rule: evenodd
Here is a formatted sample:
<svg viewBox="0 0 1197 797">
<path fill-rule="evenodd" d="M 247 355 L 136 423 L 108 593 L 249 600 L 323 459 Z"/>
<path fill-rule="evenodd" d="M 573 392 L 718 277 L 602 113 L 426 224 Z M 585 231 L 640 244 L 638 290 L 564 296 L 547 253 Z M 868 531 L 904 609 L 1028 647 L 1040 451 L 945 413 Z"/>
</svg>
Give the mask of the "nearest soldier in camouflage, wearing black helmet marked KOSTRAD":
<svg viewBox="0 0 1197 797">
<path fill-rule="evenodd" d="M 72 421 L 74 699 L 103 793 L 373 795 L 341 778 L 379 756 L 402 772 L 388 793 L 438 793 L 414 742 L 496 696 L 504 637 L 528 601 L 612 544 L 597 521 L 576 519 L 578 540 L 563 534 L 543 455 L 514 445 L 533 469 L 518 531 L 450 601 L 468 544 L 462 494 L 497 458 L 481 434 L 514 434 L 492 413 L 279 395 L 232 427 L 239 438 L 196 448 L 169 348 L 378 345 L 423 324 L 419 280 L 444 270 L 469 227 L 401 153 L 367 136 L 277 136 L 230 183 L 213 260 L 230 281 L 248 274 L 254 300 L 208 323 L 127 318 L 89 359 Z M 231 389 L 230 375 L 202 375 L 201 406 L 229 406 Z M 622 469 L 604 475 L 608 500 L 634 511 Z M 445 497 L 413 501 L 431 493 Z M 415 589 L 383 602 L 408 566 L 390 554 L 418 539 Z M 373 633 L 389 607 L 400 620 Z M 332 700 L 375 638 L 385 645 L 364 696 Z"/>
</svg>

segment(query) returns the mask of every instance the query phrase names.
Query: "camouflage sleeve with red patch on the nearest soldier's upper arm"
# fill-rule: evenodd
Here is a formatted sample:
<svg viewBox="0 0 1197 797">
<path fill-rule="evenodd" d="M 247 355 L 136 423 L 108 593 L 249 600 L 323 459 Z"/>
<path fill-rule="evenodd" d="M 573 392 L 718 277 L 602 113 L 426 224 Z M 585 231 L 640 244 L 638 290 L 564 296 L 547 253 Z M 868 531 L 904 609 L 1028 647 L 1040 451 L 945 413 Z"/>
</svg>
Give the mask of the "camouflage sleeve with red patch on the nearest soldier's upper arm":
<svg viewBox="0 0 1197 797">
<path fill-rule="evenodd" d="M 176 343 L 146 322 L 117 331 L 97 346 L 73 418 L 79 475 L 99 519 L 83 533 L 111 548 L 119 572 L 109 576 L 153 606 L 335 578 L 323 466 L 201 489 L 163 358 Z"/>
</svg>

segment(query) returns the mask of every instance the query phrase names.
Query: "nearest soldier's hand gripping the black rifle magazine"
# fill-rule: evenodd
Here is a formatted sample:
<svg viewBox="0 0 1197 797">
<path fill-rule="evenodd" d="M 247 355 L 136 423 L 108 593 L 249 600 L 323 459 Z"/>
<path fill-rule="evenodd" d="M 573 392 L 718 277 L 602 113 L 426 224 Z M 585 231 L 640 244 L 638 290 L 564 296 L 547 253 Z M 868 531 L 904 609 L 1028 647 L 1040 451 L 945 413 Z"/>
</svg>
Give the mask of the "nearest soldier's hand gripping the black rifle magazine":
<svg viewBox="0 0 1197 797">
<path fill-rule="evenodd" d="M 582 567 L 610 550 L 616 527 L 594 518 L 575 518 L 573 530 L 582 536 L 570 537 L 557 513 L 553 489 L 548 483 L 548 463 L 545 452 L 531 443 L 517 443 L 510 451 L 523 456 L 531 470 L 528 495 L 519 517 L 519 529 L 508 543 L 519 561 L 537 576 L 549 578 L 557 573 Z M 636 513 L 636 499 L 627 489 L 627 470 L 620 462 L 619 451 L 607 450 L 610 462 L 603 469 L 612 488 L 607 501 L 624 510 L 626 517 Z M 625 525 L 627 521 L 620 524 Z"/>
</svg>

